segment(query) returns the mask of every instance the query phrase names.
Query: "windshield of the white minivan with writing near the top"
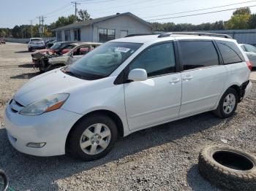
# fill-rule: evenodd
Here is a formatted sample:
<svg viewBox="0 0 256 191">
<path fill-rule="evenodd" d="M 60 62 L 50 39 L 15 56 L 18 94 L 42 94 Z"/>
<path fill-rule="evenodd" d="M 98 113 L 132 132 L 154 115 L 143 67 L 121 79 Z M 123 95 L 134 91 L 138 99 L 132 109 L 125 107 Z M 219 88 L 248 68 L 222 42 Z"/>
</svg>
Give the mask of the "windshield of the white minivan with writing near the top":
<svg viewBox="0 0 256 191">
<path fill-rule="evenodd" d="M 106 42 L 63 71 L 87 80 L 108 77 L 141 45 L 128 42 Z"/>
</svg>

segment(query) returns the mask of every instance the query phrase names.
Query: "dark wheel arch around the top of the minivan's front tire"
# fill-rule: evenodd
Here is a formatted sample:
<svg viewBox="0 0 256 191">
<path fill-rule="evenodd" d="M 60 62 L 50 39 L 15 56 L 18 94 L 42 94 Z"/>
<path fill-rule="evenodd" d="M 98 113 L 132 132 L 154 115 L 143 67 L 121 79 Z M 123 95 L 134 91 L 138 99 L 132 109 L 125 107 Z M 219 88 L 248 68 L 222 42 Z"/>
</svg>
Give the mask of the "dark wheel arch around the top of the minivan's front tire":
<svg viewBox="0 0 256 191">
<path fill-rule="evenodd" d="M 110 110 L 107 110 L 107 109 L 95 110 L 95 111 L 89 112 L 87 114 L 84 114 L 82 117 L 80 117 L 80 119 L 77 122 L 75 122 L 75 124 L 69 130 L 69 133 L 67 134 L 67 139 L 65 141 L 65 150 L 66 150 L 66 152 L 67 152 L 67 148 L 68 148 L 69 136 L 71 135 L 72 130 L 74 130 L 75 125 L 78 122 L 80 122 L 80 120 L 82 120 L 84 117 L 89 117 L 90 115 L 93 115 L 93 114 L 104 114 L 104 115 L 110 117 L 116 123 L 117 130 L 118 130 L 118 136 L 121 136 L 121 137 L 124 136 L 124 124 L 123 124 L 121 118 L 118 116 L 118 114 L 116 114 L 115 112 L 112 112 Z"/>
</svg>

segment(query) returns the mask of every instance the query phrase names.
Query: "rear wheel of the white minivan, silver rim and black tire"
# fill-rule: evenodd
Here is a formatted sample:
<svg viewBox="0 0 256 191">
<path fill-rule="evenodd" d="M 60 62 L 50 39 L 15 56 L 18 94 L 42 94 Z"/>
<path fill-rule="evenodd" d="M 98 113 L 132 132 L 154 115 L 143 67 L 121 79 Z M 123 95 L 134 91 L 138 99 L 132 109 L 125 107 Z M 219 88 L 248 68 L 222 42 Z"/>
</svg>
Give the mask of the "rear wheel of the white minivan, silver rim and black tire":
<svg viewBox="0 0 256 191">
<path fill-rule="evenodd" d="M 219 106 L 214 111 L 218 117 L 231 117 L 236 112 L 238 93 L 233 88 L 228 88 L 219 101 Z"/>
</svg>

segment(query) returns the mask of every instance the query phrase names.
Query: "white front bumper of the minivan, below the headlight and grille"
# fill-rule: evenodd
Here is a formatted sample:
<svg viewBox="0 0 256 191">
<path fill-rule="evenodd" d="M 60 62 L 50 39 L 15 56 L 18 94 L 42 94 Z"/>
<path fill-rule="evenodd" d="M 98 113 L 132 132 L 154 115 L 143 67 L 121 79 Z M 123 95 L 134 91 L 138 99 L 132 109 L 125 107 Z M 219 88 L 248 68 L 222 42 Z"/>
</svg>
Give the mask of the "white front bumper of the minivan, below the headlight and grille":
<svg viewBox="0 0 256 191">
<path fill-rule="evenodd" d="M 8 139 L 15 149 L 29 155 L 47 157 L 65 154 L 69 130 L 80 117 L 80 114 L 65 109 L 26 116 L 13 112 L 8 104 L 4 121 Z M 31 142 L 46 144 L 42 148 L 27 147 Z"/>
</svg>

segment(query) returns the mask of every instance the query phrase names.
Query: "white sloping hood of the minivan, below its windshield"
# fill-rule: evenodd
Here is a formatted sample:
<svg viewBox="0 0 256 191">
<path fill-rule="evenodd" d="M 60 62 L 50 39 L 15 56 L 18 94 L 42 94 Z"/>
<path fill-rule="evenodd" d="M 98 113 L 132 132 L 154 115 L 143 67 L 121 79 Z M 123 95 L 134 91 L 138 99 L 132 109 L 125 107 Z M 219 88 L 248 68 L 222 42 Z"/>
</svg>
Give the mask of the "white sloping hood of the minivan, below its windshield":
<svg viewBox="0 0 256 191">
<path fill-rule="evenodd" d="M 34 101 L 40 101 L 48 95 L 70 93 L 78 85 L 86 85 L 90 81 L 64 74 L 60 69 L 48 71 L 33 77 L 14 95 L 15 101 L 27 106 Z"/>
</svg>

